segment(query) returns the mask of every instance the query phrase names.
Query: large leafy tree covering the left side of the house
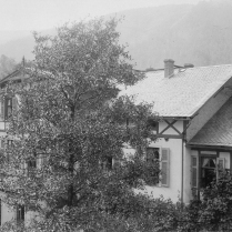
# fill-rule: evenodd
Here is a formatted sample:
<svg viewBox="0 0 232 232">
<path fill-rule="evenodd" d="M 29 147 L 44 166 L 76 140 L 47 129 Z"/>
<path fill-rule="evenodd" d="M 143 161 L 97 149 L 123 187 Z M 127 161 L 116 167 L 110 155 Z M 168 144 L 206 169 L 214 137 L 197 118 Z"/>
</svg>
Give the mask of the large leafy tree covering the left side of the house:
<svg viewBox="0 0 232 232">
<path fill-rule="evenodd" d="M 0 185 L 3 201 L 33 212 L 29 231 L 135 231 L 149 205 L 133 188 L 158 181 L 159 163 L 144 160 L 155 139 L 148 121 L 158 117 L 119 97 L 144 75 L 119 44 L 117 23 L 95 19 L 64 24 L 56 37 L 34 33 L 27 78 L 6 87 L 19 104 L 9 117 L 4 139 L 14 139 L 1 154 Z M 137 151 L 130 159 L 125 144 Z"/>
</svg>

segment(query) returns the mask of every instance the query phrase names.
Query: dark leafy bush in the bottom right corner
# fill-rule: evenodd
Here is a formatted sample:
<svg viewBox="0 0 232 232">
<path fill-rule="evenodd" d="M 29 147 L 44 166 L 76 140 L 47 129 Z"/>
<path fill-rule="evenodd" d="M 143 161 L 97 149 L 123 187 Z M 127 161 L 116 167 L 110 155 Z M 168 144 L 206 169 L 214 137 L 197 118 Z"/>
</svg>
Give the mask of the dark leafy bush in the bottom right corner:
<svg viewBox="0 0 232 232">
<path fill-rule="evenodd" d="M 180 231 L 232 230 L 232 176 L 221 173 L 202 192 L 201 200 L 193 200 L 183 208 L 179 218 Z"/>
</svg>

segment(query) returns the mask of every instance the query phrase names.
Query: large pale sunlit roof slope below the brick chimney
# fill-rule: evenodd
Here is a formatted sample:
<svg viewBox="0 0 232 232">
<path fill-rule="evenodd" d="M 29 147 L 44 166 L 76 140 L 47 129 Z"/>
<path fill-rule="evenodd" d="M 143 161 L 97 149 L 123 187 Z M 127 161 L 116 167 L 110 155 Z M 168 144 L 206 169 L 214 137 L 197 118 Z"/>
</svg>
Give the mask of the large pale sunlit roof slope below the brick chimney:
<svg viewBox="0 0 232 232">
<path fill-rule="evenodd" d="M 171 78 L 154 71 L 122 93 L 153 103 L 162 117 L 192 117 L 231 77 L 232 64 L 175 69 Z"/>
</svg>

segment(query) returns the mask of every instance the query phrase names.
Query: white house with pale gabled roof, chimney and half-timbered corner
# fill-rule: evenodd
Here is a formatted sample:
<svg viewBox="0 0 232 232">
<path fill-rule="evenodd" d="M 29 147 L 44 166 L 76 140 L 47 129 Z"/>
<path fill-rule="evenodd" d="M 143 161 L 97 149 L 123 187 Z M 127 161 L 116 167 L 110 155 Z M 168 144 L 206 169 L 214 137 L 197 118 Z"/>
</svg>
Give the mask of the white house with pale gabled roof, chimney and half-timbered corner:
<svg viewBox="0 0 232 232">
<path fill-rule="evenodd" d="M 168 59 L 124 93 L 153 103 L 161 117 L 147 152 L 161 163 L 161 181 L 147 186 L 154 198 L 188 203 L 221 169 L 232 170 L 232 64 L 176 67 Z"/>
</svg>

